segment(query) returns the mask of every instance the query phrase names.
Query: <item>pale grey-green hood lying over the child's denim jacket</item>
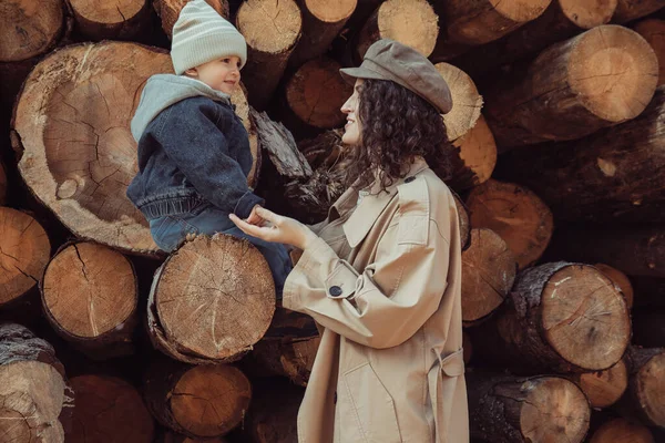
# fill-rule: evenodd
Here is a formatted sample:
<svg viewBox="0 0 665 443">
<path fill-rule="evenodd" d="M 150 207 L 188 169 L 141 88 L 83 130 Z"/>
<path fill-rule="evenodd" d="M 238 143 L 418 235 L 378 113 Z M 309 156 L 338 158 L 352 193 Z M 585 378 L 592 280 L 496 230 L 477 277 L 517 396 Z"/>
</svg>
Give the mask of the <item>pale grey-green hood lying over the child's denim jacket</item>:
<svg viewBox="0 0 665 443">
<path fill-rule="evenodd" d="M 136 143 L 143 132 L 162 111 L 185 99 L 206 96 L 231 105 L 231 96 L 217 91 L 196 79 L 184 75 L 156 74 L 151 76 L 143 87 L 139 107 L 132 119 L 132 135 Z"/>
</svg>

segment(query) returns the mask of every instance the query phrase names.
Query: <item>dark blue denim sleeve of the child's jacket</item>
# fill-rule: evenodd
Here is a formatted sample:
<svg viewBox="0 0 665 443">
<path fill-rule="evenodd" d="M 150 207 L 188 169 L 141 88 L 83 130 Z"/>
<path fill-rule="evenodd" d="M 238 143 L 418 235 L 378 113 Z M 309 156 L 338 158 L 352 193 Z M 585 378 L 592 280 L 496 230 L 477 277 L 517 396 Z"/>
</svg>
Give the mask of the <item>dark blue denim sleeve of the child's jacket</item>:
<svg viewBox="0 0 665 443">
<path fill-rule="evenodd" d="M 241 165 L 228 154 L 228 141 L 217 125 L 228 116 L 216 115 L 214 106 L 198 104 L 187 106 L 187 117 L 183 119 L 173 113 L 174 109 L 167 110 L 170 114 L 157 132 L 166 155 L 208 202 L 247 218 L 264 200 L 249 189 Z"/>
</svg>

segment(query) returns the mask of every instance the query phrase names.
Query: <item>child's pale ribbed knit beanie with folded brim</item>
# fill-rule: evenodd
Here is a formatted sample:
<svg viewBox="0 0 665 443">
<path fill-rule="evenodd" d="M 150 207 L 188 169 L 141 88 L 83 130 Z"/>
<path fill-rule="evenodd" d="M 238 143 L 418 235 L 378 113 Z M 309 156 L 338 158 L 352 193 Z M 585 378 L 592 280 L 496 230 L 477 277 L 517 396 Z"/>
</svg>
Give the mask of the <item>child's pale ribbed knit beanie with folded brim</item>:
<svg viewBox="0 0 665 443">
<path fill-rule="evenodd" d="M 175 73 L 181 75 L 191 68 L 229 55 L 241 59 L 241 68 L 247 62 L 243 34 L 205 0 L 185 4 L 173 25 L 171 60 Z"/>
</svg>

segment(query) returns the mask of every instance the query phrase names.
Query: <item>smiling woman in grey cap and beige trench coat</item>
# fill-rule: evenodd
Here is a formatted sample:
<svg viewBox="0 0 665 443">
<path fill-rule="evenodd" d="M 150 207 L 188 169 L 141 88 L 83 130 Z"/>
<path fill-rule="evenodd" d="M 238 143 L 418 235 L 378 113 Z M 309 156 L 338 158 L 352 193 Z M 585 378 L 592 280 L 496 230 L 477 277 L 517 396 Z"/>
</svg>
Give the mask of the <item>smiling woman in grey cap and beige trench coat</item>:
<svg viewBox="0 0 665 443">
<path fill-rule="evenodd" d="M 301 443 L 469 441 L 461 251 L 448 187 L 424 158 L 451 150 L 452 106 L 436 68 L 381 40 L 341 111 L 359 177 L 311 228 L 260 208 L 245 233 L 303 249 L 284 307 L 310 315 L 321 342 L 298 413 Z"/>
</svg>

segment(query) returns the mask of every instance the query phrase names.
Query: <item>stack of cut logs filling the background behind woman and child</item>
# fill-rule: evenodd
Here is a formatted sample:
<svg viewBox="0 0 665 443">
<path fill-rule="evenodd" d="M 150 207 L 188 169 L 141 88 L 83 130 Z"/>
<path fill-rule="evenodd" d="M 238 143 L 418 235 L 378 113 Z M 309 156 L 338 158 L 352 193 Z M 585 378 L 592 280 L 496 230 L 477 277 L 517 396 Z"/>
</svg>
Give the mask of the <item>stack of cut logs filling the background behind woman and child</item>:
<svg viewBox="0 0 665 443">
<path fill-rule="evenodd" d="M 474 441 L 665 442 L 665 0 L 207 1 L 248 44 L 248 183 L 305 223 L 344 190 L 340 66 L 391 38 L 449 82 Z M 0 443 L 297 442 L 311 319 L 125 197 L 186 2 L 0 6 Z"/>
</svg>

